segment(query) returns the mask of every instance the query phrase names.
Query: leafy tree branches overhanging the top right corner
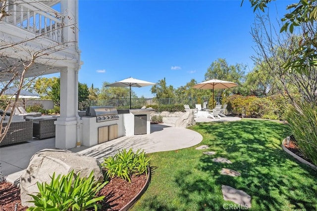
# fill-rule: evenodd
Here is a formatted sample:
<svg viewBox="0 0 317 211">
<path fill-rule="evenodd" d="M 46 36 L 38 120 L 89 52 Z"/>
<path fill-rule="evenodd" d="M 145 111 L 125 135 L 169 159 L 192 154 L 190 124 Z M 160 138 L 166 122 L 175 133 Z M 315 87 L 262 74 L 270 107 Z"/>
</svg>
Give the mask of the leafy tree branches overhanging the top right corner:
<svg viewBox="0 0 317 211">
<path fill-rule="evenodd" d="M 249 0 L 254 11 L 258 8 L 264 12 L 264 8 L 271 0 Z M 243 3 L 243 0 L 242 0 Z M 241 3 L 241 4 L 242 4 Z M 289 13 L 284 15 L 281 21 L 280 32 L 294 32 L 295 27 L 300 27 L 301 37 L 298 46 L 293 48 L 290 56 L 281 65 L 286 71 L 296 71 L 308 75 L 307 69 L 317 67 L 317 41 L 316 41 L 316 20 L 317 1 L 299 0 L 287 6 Z"/>
</svg>

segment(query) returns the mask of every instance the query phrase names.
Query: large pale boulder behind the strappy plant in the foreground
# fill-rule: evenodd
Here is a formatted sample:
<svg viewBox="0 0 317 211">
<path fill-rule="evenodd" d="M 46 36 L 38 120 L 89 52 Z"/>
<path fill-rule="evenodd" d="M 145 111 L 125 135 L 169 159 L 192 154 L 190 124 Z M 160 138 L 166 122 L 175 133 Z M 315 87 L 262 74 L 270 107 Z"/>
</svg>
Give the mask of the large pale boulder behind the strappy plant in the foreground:
<svg viewBox="0 0 317 211">
<path fill-rule="evenodd" d="M 39 192 L 37 182 L 51 182 L 51 176 L 55 172 L 66 175 L 70 171 L 81 177 L 88 177 L 94 171 L 95 180 L 103 182 L 104 175 L 99 161 L 93 157 L 87 157 L 68 150 L 44 149 L 33 155 L 28 168 L 20 177 L 21 203 L 23 206 L 33 206 L 27 201 L 33 200 L 28 194 Z"/>
</svg>

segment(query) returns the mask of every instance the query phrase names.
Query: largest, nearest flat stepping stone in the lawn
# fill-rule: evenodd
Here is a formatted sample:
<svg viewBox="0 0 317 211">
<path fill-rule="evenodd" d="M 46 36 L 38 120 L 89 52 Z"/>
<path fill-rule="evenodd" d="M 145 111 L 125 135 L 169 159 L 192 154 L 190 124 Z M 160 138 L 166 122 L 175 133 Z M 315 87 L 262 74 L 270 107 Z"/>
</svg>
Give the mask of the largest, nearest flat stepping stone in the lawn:
<svg viewBox="0 0 317 211">
<path fill-rule="evenodd" d="M 246 192 L 233 187 L 222 185 L 222 195 L 224 200 L 232 201 L 241 206 L 241 208 L 251 208 L 251 196 Z"/>
</svg>

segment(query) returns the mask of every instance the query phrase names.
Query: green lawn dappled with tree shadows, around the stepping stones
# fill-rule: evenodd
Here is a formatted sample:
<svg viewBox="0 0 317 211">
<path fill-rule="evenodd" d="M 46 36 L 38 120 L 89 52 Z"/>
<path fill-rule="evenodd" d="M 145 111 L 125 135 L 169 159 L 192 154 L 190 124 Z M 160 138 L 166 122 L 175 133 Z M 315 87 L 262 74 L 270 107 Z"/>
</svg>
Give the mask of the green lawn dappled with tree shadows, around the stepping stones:
<svg viewBox="0 0 317 211">
<path fill-rule="evenodd" d="M 152 153 L 151 183 L 134 211 L 224 210 L 221 185 L 245 191 L 253 211 L 317 210 L 317 171 L 297 162 L 281 148 L 289 135 L 287 125 L 272 121 L 242 120 L 201 123 L 191 129 L 203 135 L 197 146 Z M 208 156 L 203 152 L 215 151 Z M 232 164 L 212 162 L 223 157 Z M 234 169 L 239 177 L 221 175 Z M 234 205 L 233 203 L 231 203 Z M 227 207 L 225 207 L 227 208 Z"/>
</svg>

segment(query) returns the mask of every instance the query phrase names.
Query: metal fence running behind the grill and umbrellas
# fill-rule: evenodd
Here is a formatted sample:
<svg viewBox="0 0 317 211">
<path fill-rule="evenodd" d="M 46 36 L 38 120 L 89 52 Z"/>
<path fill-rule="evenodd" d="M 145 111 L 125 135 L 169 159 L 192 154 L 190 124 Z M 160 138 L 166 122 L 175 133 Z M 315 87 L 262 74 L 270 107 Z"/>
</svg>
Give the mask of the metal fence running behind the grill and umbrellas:
<svg viewBox="0 0 317 211">
<path fill-rule="evenodd" d="M 210 98 L 201 99 L 202 104 L 206 105 L 209 103 Z M 221 104 L 221 97 L 215 97 L 216 104 Z M 192 108 L 195 108 L 195 104 L 198 104 L 197 98 L 132 98 L 131 107 L 132 108 L 142 108 L 146 105 L 189 105 Z M 130 99 L 113 99 L 113 100 L 86 100 L 79 103 L 80 110 L 86 110 L 89 106 L 114 106 L 117 109 L 129 109 L 130 108 Z"/>
</svg>

